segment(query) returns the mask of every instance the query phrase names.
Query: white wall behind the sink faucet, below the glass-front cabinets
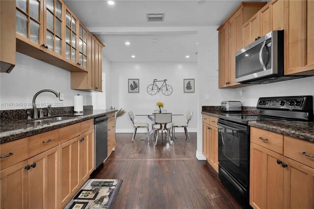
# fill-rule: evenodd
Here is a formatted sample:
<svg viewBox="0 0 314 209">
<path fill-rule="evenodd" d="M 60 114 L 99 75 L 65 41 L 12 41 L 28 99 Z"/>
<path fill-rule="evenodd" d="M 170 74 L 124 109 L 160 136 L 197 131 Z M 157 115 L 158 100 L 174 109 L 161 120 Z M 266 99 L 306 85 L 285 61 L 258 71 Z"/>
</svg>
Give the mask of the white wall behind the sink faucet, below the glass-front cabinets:
<svg viewBox="0 0 314 209">
<path fill-rule="evenodd" d="M 59 101 L 52 93 L 40 94 L 36 103 L 62 103 L 63 106 L 73 106 L 73 96 L 83 95 L 86 105 L 88 92 L 71 90 L 71 74 L 69 71 L 55 67 L 46 62 L 16 52 L 16 66 L 10 74 L 0 74 L 0 109 L 23 109 L 24 103 L 31 102 L 36 92 L 42 89 L 52 89 L 64 93 L 64 101 Z M 22 103 L 8 106 L 5 103 Z"/>
</svg>

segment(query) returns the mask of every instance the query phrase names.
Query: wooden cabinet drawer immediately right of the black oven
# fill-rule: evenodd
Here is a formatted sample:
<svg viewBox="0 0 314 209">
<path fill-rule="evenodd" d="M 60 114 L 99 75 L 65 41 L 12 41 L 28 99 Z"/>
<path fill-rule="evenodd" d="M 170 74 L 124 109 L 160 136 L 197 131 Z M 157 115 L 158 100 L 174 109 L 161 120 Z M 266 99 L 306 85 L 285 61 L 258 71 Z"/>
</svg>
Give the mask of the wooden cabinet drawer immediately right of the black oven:
<svg viewBox="0 0 314 209">
<path fill-rule="evenodd" d="M 251 142 L 283 154 L 284 135 L 251 127 Z"/>
</svg>

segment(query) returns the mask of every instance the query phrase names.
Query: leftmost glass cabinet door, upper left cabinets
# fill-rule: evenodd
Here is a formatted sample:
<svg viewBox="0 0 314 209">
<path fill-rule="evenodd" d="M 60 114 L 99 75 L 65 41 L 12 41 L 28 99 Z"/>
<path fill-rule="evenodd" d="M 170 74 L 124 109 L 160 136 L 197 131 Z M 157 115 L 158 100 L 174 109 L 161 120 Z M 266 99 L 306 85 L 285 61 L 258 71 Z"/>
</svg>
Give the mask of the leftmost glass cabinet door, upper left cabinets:
<svg viewBox="0 0 314 209">
<path fill-rule="evenodd" d="M 16 0 L 16 32 L 37 47 L 41 45 L 42 19 L 42 0 Z"/>
</svg>

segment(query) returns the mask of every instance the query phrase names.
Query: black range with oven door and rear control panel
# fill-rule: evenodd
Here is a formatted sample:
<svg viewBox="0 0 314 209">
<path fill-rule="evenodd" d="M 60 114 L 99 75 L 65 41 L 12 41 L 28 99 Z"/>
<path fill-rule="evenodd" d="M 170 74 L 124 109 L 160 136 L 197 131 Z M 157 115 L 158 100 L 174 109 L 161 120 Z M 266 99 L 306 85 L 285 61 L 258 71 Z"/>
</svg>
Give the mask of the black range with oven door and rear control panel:
<svg viewBox="0 0 314 209">
<path fill-rule="evenodd" d="M 259 115 L 223 114 L 218 119 L 218 176 L 243 208 L 249 208 L 249 121 L 313 121 L 313 97 L 263 97 Z"/>
</svg>

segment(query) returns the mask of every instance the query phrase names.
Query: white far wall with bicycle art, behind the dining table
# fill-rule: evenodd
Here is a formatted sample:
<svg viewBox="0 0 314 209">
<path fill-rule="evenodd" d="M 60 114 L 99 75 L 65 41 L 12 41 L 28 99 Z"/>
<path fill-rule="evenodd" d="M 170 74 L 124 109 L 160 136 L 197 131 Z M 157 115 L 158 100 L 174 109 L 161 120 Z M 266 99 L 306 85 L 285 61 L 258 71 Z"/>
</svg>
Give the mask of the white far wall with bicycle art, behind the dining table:
<svg viewBox="0 0 314 209">
<path fill-rule="evenodd" d="M 175 62 L 112 62 L 112 106 L 116 109 L 123 108 L 134 114 L 151 114 L 157 109 L 157 102 L 164 104 L 164 109 L 173 114 L 185 114 L 187 110 L 197 111 L 197 89 L 195 93 L 183 93 L 183 78 L 195 78 L 197 80 L 196 63 Z M 128 78 L 139 78 L 139 93 L 128 93 Z M 170 96 L 161 92 L 156 95 L 147 93 L 147 86 L 154 79 L 168 79 L 167 84 L 173 88 Z M 150 123 L 146 116 L 137 116 L 138 122 Z M 186 121 L 184 116 L 173 116 L 173 121 Z M 189 131 L 196 131 L 196 117 L 192 117 L 189 123 Z M 117 118 L 117 132 L 133 132 L 128 113 Z M 138 130 L 140 131 L 140 130 Z M 142 130 L 145 131 L 145 130 Z M 180 131 L 180 130 L 178 130 Z"/>
</svg>

